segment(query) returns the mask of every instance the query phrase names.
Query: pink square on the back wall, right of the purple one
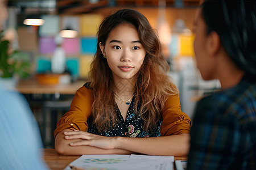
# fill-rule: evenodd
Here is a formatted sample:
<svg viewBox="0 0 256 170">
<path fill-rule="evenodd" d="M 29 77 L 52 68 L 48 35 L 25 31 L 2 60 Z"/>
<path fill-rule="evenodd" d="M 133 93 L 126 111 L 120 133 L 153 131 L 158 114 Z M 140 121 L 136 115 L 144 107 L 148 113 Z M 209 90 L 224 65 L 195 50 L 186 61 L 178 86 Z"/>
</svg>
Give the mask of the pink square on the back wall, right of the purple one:
<svg viewBox="0 0 256 170">
<path fill-rule="evenodd" d="M 62 47 L 65 51 L 65 54 L 78 54 L 80 48 L 80 40 L 75 39 L 64 39 Z"/>
</svg>

